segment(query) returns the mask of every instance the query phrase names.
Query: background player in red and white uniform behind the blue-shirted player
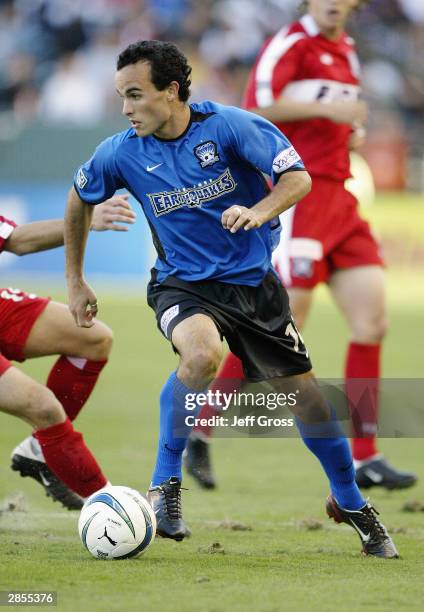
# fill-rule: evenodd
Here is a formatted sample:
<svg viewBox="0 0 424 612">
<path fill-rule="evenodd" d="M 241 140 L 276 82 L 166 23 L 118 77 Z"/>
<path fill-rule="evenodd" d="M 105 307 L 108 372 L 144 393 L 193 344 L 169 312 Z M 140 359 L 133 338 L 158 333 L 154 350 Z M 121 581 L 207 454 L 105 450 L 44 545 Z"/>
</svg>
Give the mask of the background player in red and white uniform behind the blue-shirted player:
<svg viewBox="0 0 424 612">
<path fill-rule="evenodd" d="M 283 232 L 274 265 L 288 288 L 300 328 L 313 289 L 320 282 L 328 284 L 351 331 L 345 364 L 349 400 L 355 404 L 364 390 L 369 391 L 370 399 L 366 406 L 362 403 L 354 421 L 357 483 L 395 489 L 413 485 L 416 476 L 392 467 L 375 440 L 380 349 L 387 326 L 383 262 L 368 223 L 358 214 L 357 201 L 344 187 L 350 176 L 349 150 L 363 143 L 367 119 L 354 41 L 344 31 L 351 10 L 360 3 L 306 2 L 306 14 L 261 50 L 244 106 L 284 132 L 312 176 L 312 191 L 281 217 Z M 218 376 L 242 379 L 237 357 L 230 354 Z M 208 407 L 199 418 L 211 413 Z M 206 487 L 215 484 L 205 444 L 210 431 L 197 428 L 186 461 L 189 472 Z"/>
</svg>

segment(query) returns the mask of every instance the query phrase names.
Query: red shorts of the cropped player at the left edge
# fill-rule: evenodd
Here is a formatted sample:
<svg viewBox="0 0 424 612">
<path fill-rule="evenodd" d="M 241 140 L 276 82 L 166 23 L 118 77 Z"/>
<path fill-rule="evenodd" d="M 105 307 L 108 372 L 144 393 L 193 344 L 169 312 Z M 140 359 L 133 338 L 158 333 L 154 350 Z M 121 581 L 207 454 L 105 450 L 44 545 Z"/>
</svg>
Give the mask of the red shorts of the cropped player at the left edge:
<svg viewBox="0 0 424 612">
<path fill-rule="evenodd" d="M 29 333 L 49 301 L 19 289 L 0 288 L 0 375 L 10 367 L 9 359 L 25 360 Z"/>
</svg>

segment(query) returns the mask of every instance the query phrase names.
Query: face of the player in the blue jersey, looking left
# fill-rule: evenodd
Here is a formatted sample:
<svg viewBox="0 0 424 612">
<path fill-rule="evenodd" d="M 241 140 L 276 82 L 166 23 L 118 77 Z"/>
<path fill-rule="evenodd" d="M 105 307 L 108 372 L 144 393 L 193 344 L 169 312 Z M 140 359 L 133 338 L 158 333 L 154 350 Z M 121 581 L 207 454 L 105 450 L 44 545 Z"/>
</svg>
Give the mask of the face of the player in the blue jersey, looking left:
<svg viewBox="0 0 424 612">
<path fill-rule="evenodd" d="M 137 62 L 116 72 L 116 89 L 123 99 L 122 113 L 137 136 L 160 133 L 172 116 L 172 102 L 178 98 L 175 84 L 159 91 L 150 79 L 150 64 Z"/>
</svg>

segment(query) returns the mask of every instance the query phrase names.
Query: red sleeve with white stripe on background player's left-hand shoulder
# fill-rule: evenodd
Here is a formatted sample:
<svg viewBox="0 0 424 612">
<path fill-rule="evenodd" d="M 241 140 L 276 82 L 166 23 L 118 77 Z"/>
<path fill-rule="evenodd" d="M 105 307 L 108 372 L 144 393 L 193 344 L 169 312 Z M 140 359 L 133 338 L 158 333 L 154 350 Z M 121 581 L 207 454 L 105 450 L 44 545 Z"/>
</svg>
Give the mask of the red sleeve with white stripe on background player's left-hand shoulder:
<svg viewBox="0 0 424 612">
<path fill-rule="evenodd" d="M 271 106 L 284 87 L 296 80 L 302 61 L 303 32 L 281 30 L 268 40 L 253 66 L 244 99 L 245 108 Z"/>
</svg>

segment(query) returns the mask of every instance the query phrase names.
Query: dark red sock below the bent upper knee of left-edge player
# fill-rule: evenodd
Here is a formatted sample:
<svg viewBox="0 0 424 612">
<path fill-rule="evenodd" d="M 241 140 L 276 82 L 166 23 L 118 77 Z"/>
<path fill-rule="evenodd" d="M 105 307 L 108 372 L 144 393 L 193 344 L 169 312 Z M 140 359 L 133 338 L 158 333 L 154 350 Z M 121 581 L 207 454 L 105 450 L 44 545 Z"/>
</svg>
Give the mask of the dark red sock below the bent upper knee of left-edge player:
<svg viewBox="0 0 424 612">
<path fill-rule="evenodd" d="M 91 395 L 106 361 L 88 361 L 62 355 L 52 367 L 47 387 L 73 421 Z"/>
</svg>

